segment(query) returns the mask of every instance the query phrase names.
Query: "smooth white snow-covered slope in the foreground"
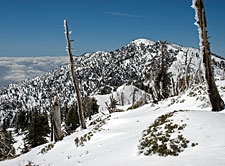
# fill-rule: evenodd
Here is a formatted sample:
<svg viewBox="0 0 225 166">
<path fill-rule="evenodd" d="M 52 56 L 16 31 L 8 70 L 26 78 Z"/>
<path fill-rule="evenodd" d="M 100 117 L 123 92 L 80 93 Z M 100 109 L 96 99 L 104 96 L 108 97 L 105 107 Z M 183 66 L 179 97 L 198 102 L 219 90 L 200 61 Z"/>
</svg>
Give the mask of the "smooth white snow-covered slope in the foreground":
<svg viewBox="0 0 225 166">
<path fill-rule="evenodd" d="M 217 81 L 220 94 L 225 100 L 225 80 Z M 124 93 L 132 87 L 120 87 Z M 211 112 L 205 86 L 195 86 L 185 94 L 169 98 L 158 104 L 145 104 L 137 109 L 112 113 L 105 120 L 101 130 L 93 133 L 84 146 L 76 146 L 75 138 L 90 131 L 77 131 L 55 143 L 54 147 L 45 154 L 40 151 L 46 145 L 41 145 L 30 152 L 12 160 L 0 162 L 1 166 L 24 166 L 29 161 L 39 166 L 223 166 L 225 165 L 225 110 Z M 127 93 L 125 96 L 129 96 Z M 98 103 L 104 109 L 108 96 L 97 96 Z M 127 106 L 128 107 L 128 106 Z M 125 107 L 123 107 L 125 109 Z M 185 138 L 198 143 L 197 146 L 184 149 L 179 156 L 160 157 L 157 155 L 144 156 L 138 152 L 142 132 L 160 115 L 174 110 L 171 117 L 176 123 L 186 123 L 181 131 Z M 104 114 L 107 111 L 104 110 Z M 98 116 L 107 116 L 99 113 Z M 97 116 L 97 115 L 96 115 Z"/>
</svg>

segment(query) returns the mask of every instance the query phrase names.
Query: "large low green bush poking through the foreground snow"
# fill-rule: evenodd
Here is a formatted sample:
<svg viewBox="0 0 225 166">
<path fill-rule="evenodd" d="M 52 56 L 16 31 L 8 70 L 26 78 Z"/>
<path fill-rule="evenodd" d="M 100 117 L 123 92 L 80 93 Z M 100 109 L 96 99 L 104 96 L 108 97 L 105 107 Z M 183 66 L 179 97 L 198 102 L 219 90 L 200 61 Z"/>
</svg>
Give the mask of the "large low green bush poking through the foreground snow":
<svg viewBox="0 0 225 166">
<path fill-rule="evenodd" d="M 183 110 L 180 110 L 181 112 Z M 143 131 L 143 136 L 138 146 L 139 152 L 144 155 L 157 154 L 159 156 L 178 156 L 190 144 L 190 141 L 184 138 L 181 131 L 186 124 L 175 124 L 169 119 L 178 111 L 173 111 L 158 117 L 148 129 Z M 179 133 L 174 137 L 175 133 Z M 173 134 L 173 138 L 171 135 Z M 192 143 L 194 147 L 196 143 Z"/>
</svg>

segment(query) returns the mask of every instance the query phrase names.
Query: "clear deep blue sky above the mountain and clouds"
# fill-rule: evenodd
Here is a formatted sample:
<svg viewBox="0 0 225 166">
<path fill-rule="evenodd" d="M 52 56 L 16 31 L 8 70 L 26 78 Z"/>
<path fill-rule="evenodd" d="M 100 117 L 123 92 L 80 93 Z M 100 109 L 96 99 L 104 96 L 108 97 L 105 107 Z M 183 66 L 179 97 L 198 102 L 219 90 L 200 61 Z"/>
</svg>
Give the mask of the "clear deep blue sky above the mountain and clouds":
<svg viewBox="0 0 225 166">
<path fill-rule="evenodd" d="M 138 38 L 198 48 L 191 0 L 1 0 L 0 56 L 64 56 L 67 19 L 75 54 L 112 51 Z M 204 0 L 212 52 L 225 57 L 225 1 Z"/>
</svg>

